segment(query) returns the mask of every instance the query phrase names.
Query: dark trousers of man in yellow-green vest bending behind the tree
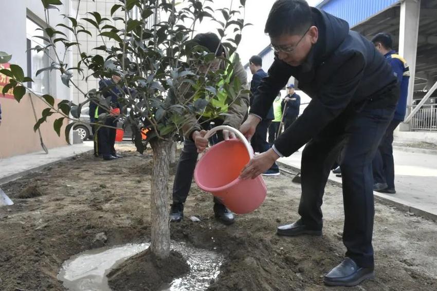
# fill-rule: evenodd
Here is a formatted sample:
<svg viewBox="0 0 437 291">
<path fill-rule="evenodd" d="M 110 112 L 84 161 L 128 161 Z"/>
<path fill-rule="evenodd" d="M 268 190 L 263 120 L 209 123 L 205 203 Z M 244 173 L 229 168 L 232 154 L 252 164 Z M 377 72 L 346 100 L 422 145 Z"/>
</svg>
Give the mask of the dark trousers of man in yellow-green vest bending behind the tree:
<svg viewBox="0 0 437 291">
<path fill-rule="evenodd" d="M 220 124 L 216 124 L 218 126 Z M 214 127 L 215 127 L 214 126 Z M 202 126 L 205 130 L 210 129 L 209 125 Z M 210 144 L 223 141 L 223 134 L 218 132 L 214 134 L 210 139 Z M 194 176 L 194 168 L 197 163 L 197 148 L 193 141 L 185 139 L 184 148 L 180 153 L 179 162 L 177 163 L 176 175 L 173 182 L 173 202 L 185 203 L 188 197 L 188 193 L 191 188 L 191 181 Z M 214 203 L 222 204 L 219 200 L 214 198 Z"/>
</svg>

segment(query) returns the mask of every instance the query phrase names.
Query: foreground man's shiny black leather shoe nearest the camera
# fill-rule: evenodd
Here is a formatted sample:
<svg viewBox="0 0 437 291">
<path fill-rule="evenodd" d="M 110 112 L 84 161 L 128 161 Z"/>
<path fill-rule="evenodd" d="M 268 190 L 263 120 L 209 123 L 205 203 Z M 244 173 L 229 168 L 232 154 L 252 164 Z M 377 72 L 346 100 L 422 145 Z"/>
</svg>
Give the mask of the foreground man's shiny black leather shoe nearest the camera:
<svg viewBox="0 0 437 291">
<path fill-rule="evenodd" d="M 373 268 L 359 267 L 351 258 L 344 260 L 329 271 L 323 279 L 328 286 L 355 286 L 366 279 L 375 278 Z"/>
</svg>

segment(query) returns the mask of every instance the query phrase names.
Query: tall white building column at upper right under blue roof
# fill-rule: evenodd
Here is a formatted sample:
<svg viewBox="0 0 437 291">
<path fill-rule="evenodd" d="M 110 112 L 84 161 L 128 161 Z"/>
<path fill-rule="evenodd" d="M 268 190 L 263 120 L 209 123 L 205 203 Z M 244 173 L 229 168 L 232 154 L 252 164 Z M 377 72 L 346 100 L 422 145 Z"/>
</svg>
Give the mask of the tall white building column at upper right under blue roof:
<svg viewBox="0 0 437 291">
<path fill-rule="evenodd" d="M 405 0 L 400 4 L 399 55 L 403 56 L 410 67 L 408 84 L 407 115 L 411 112 L 416 71 L 417 38 L 419 30 L 421 0 Z M 401 124 L 401 131 L 410 130 L 409 124 Z"/>
</svg>

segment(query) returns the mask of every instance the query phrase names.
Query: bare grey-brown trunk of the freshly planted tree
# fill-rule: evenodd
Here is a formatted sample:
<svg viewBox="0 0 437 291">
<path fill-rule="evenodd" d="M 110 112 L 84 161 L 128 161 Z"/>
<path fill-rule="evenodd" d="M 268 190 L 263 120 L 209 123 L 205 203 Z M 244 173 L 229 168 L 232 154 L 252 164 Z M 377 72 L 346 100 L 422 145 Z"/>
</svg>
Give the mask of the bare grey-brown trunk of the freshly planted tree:
<svg viewBox="0 0 437 291">
<path fill-rule="evenodd" d="M 172 141 L 153 139 L 152 187 L 150 208 L 152 212 L 152 254 L 166 259 L 170 254 L 170 218 L 169 218 L 169 161 Z"/>
</svg>

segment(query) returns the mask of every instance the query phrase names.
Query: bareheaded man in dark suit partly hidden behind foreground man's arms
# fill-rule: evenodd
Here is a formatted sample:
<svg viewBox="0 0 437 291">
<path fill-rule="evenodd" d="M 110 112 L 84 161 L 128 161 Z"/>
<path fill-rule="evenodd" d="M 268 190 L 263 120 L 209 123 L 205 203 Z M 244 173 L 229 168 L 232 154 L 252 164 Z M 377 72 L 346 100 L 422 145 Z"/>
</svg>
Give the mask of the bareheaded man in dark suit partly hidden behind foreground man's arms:
<svg viewBox="0 0 437 291">
<path fill-rule="evenodd" d="M 250 82 L 250 106 L 253 103 L 253 96 L 258 90 L 258 86 L 261 83 L 263 77 L 267 76 L 267 73 L 262 69 L 263 60 L 259 55 L 252 55 L 249 60 L 249 69 L 253 74 L 252 81 Z M 252 145 L 254 152 L 265 152 L 271 148 L 271 145 L 267 142 L 267 131 L 271 124 L 271 121 L 275 119 L 273 113 L 273 106 L 270 106 L 266 117 L 258 124 L 257 130 L 253 134 L 250 144 Z M 262 173 L 264 176 L 278 176 L 279 167 L 274 163 L 267 171 Z"/>
</svg>

